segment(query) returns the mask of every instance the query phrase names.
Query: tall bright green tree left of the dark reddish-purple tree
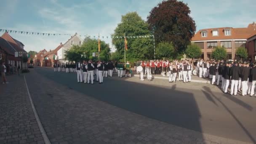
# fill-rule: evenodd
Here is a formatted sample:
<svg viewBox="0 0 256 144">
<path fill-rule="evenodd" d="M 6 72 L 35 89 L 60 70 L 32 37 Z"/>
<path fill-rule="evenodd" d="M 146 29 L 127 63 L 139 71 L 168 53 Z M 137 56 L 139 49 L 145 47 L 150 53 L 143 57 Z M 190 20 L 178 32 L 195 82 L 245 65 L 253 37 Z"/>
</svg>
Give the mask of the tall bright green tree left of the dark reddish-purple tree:
<svg viewBox="0 0 256 144">
<path fill-rule="evenodd" d="M 148 24 L 136 12 L 130 12 L 122 16 L 121 23 L 117 25 L 114 37 L 130 37 L 151 35 Z M 152 59 L 154 57 L 153 40 L 147 38 L 127 38 L 128 51 L 126 59 L 135 61 L 139 59 Z M 113 44 L 117 49 L 119 60 L 124 59 L 124 38 L 114 38 Z"/>
</svg>

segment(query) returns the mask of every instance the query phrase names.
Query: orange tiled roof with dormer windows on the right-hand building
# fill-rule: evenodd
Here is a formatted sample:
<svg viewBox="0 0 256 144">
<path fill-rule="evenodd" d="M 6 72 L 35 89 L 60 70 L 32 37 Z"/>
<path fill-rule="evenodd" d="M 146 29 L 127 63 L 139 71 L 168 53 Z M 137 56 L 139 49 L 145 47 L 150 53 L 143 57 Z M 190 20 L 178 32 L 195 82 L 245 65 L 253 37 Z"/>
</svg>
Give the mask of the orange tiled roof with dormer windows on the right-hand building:
<svg viewBox="0 0 256 144">
<path fill-rule="evenodd" d="M 224 29 L 230 29 L 231 35 L 225 35 Z M 213 36 L 212 31 L 218 30 L 219 35 Z M 201 32 L 207 31 L 207 37 L 202 37 Z M 201 41 L 201 40 L 229 40 L 229 39 L 248 39 L 249 37 L 256 35 L 256 25 L 249 24 L 246 28 L 232 28 L 232 27 L 220 27 L 220 28 L 210 28 L 210 29 L 201 29 L 199 30 L 192 41 Z"/>
</svg>

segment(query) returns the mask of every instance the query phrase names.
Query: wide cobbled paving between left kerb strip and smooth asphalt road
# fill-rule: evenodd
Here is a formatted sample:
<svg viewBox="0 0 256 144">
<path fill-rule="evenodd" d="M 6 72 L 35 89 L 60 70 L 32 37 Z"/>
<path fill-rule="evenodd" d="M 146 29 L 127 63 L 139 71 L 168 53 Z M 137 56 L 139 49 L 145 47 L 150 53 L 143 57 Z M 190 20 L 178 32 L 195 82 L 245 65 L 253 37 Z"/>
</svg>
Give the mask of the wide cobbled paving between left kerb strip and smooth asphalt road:
<svg viewBox="0 0 256 144">
<path fill-rule="evenodd" d="M 33 83 L 35 78 L 37 83 Z M 135 114 L 56 83 L 37 72 L 31 72 L 27 82 L 52 144 L 249 144 Z M 115 89 L 115 92 L 122 91 Z"/>
</svg>

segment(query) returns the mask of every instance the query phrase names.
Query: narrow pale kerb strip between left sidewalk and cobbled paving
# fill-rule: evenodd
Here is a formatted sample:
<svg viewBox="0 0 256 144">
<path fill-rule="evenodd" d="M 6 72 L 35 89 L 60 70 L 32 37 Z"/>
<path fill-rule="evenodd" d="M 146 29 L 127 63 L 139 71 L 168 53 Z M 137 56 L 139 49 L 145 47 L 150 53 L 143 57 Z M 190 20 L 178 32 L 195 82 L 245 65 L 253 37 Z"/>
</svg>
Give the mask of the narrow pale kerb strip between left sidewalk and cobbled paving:
<svg viewBox="0 0 256 144">
<path fill-rule="evenodd" d="M 47 134 L 45 133 L 45 129 L 43 128 L 43 125 L 42 125 L 42 123 L 41 123 L 41 121 L 40 121 L 40 118 L 39 118 L 38 115 L 37 115 L 37 110 L 35 109 L 35 105 L 34 105 L 34 103 L 33 103 L 33 101 L 32 101 L 31 95 L 30 95 L 30 93 L 29 93 L 29 88 L 28 88 L 28 86 L 27 86 L 26 77 L 25 77 L 25 75 L 23 75 L 23 76 L 24 76 L 24 80 L 25 80 L 26 87 L 27 87 L 27 93 L 28 93 L 28 95 L 29 95 L 29 101 L 30 101 L 30 104 L 31 104 L 32 109 L 33 109 L 33 112 L 34 112 L 35 119 L 37 120 L 37 125 L 38 125 L 38 127 L 39 127 L 39 129 L 40 129 L 40 132 L 41 132 L 42 136 L 43 136 L 43 140 L 45 141 L 45 144 L 51 144 L 50 140 L 48 139 Z"/>
</svg>

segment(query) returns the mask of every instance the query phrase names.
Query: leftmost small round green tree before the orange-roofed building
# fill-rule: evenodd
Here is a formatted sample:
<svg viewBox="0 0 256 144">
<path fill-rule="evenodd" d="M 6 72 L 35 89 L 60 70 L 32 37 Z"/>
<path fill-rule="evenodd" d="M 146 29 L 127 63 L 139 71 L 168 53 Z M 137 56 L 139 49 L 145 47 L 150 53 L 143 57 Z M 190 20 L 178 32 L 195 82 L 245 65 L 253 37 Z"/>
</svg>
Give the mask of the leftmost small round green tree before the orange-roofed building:
<svg viewBox="0 0 256 144">
<path fill-rule="evenodd" d="M 187 46 L 185 53 L 188 58 L 197 59 L 200 58 L 202 50 L 198 45 L 191 44 Z"/>
</svg>

